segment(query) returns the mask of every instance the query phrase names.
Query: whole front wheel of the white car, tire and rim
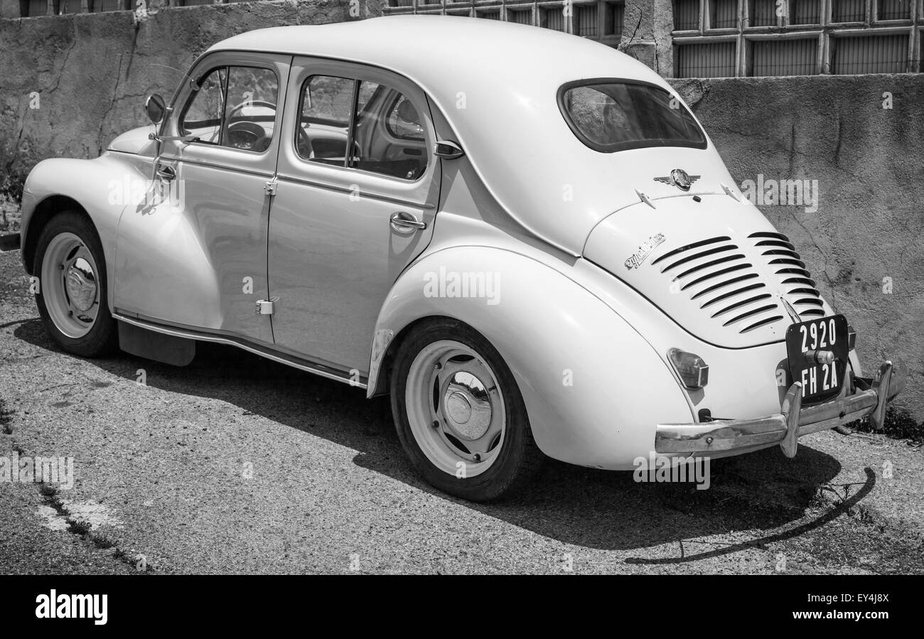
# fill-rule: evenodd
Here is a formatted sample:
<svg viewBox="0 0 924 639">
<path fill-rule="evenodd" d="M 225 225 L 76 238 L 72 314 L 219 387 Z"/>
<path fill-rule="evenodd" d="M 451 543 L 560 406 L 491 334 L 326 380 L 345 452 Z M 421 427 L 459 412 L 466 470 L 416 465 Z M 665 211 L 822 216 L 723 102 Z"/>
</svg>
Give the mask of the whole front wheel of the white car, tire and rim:
<svg viewBox="0 0 924 639">
<path fill-rule="evenodd" d="M 35 302 L 55 342 L 84 357 L 116 349 L 116 320 L 107 303 L 103 247 L 85 216 L 65 211 L 45 225 L 32 272 L 40 278 Z"/>
</svg>

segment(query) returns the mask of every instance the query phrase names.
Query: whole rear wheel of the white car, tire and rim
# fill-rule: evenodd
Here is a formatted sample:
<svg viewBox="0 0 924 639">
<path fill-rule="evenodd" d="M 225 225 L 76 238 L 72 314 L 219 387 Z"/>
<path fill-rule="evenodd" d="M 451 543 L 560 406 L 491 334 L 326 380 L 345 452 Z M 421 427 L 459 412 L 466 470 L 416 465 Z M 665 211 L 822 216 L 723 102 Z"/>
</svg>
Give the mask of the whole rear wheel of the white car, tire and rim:
<svg viewBox="0 0 924 639">
<path fill-rule="evenodd" d="M 436 488 L 473 501 L 529 482 L 542 453 L 504 360 L 455 320 L 418 327 L 402 344 L 391 380 L 398 439 Z"/>
</svg>

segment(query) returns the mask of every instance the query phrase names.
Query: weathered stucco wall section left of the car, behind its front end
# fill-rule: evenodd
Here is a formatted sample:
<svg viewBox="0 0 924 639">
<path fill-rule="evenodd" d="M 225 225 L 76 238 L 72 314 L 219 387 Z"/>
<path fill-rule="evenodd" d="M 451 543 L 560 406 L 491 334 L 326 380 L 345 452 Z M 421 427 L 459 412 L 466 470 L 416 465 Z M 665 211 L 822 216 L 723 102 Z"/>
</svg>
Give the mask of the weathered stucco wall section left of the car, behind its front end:
<svg viewBox="0 0 924 639">
<path fill-rule="evenodd" d="M 145 96 L 169 98 L 214 42 L 261 27 L 381 15 L 381 0 L 358 2 L 168 7 L 140 21 L 130 11 L 0 19 L 0 172 L 18 174 L 47 157 L 97 155 L 118 133 L 145 123 Z"/>
</svg>

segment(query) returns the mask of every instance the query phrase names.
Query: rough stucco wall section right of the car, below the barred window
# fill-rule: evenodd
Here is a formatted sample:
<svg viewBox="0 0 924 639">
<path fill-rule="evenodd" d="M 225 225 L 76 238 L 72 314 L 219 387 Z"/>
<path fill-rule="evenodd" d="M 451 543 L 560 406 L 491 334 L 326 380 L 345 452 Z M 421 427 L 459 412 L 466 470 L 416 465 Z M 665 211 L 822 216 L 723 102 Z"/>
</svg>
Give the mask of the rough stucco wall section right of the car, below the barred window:
<svg viewBox="0 0 924 639">
<path fill-rule="evenodd" d="M 818 181 L 817 211 L 810 202 L 761 209 L 796 244 L 822 294 L 853 322 L 863 366 L 887 356 L 906 361 L 908 387 L 896 405 L 920 422 L 924 76 L 671 83 L 693 107 L 738 186 L 757 183 L 759 175 L 764 181 Z"/>
</svg>

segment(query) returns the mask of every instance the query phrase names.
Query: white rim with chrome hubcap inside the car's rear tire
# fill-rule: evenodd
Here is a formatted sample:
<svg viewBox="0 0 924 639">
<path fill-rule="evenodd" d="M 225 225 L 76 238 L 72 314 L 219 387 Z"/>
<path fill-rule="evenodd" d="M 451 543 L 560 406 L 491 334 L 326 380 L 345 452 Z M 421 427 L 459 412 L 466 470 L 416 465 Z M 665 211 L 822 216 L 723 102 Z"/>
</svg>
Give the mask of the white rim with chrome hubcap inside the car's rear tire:
<svg viewBox="0 0 924 639">
<path fill-rule="evenodd" d="M 504 396 L 492 369 L 465 344 L 424 348 L 407 374 L 407 418 L 420 450 L 438 468 L 476 476 L 491 467 L 505 436 Z"/>
</svg>

